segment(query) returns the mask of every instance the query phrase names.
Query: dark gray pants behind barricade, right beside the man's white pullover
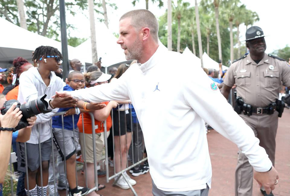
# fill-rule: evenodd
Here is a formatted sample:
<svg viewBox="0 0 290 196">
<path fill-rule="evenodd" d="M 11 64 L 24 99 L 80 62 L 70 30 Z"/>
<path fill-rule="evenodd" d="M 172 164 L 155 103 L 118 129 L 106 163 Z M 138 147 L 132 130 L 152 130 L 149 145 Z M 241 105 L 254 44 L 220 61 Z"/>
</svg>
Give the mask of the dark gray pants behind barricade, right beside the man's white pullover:
<svg viewBox="0 0 290 196">
<path fill-rule="evenodd" d="M 134 150 L 134 161 L 132 160 L 133 164 L 139 162 L 143 159 L 144 154 L 144 144 L 143 144 L 143 132 L 140 127 L 139 123 L 132 123 L 133 124 L 133 150 Z M 132 145 L 129 149 L 130 157 L 132 155 Z M 138 169 L 139 166 L 135 166 L 135 169 Z"/>
</svg>

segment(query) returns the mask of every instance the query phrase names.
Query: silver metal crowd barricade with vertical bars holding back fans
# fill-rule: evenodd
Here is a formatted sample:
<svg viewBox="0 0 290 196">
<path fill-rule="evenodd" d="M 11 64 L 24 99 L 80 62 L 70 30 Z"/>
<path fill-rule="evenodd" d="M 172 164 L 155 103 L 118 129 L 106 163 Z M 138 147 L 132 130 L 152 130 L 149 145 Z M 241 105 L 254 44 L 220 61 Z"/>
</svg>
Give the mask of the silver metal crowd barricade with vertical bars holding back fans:
<svg viewBox="0 0 290 196">
<path fill-rule="evenodd" d="M 118 106 L 118 109 L 120 109 L 120 107 Z M 130 109 L 131 111 L 131 109 Z M 119 114 L 119 119 L 118 119 L 118 122 L 119 122 L 119 136 L 121 136 L 121 126 L 120 126 L 120 113 L 121 112 L 124 112 L 125 114 L 125 118 L 126 118 L 126 111 L 120 111 L 118 110 L 118 114 Z M 63 112 L 58 112 L 56 113 L 54 116 L 61 116 L 61 119 L 62 119 L 62 131 L 64 132 L 64 121 L 63 121 L 63 115 L 65 114 L 65 111 Z M 83 131 L 82 133 L 79 132 L 79 135 L 80 134 L 85 134 L 84 132 L 84 122 L 83 122 L 83 113 L 81 113 L 82 115 L 82 126 L 83 126 Z M 95 130 L 95 118 L 93 116 L 92 113 L 89 113 L 90 117 L 91 117 L 91 120 L 92 120 L 92 130 Z M 112 133 L 113 134 L 113 143 L 114 143 L 114 123 L 113 123 L 113 110 L 111 111 L 111 119 L 112 119 Z M 134 144 L 133 144 L 133 123 L 132 123 L 132 115 L 130 117 L 131 119 L 131 130 L 132 130 L 132 135 L 131 135 L 131 145 L 132 145 L 132 159 L 133 159 L 133 164 L 132 165 L 128 165 L 128 160 L 127 160 L 127 166 L 124 170 L 121 170 L 120 172 L 116 173 L 116 170 L 115 170 L 115 159 L 114 159 L 114 175 L 111 175 L 109 174 L 109 166 L 108 166 L 108 141 L 107 141 L 107 123 L 106 123 L 106 120 L 103 122 L 104 123 L 104 141 L 105 141 L 105 160 L 103 161 L 103 164 L 106 163 L 106 181 L 109 182 L 111 179 L 115 178 L 116 179 L 114 180 L 114 183 L 113 185 L 115 185 L 117 182 L 118 182 L 118 179 L 123 176 L 123 178 L 125 179 L 125 181 L 127 182 L 127 184 L 129 185 L 130 189 L 132 190 L 133 194 L 134 195 L 137 195 L 136 191 L 134 190 L 134 188 L 132 187 L 132 185 L 128 182 L 128 180 L 126 179 L 126 177 L 124 176 L 124 172 L 127 172 L 128 170 L 130 170 L 131 168 L 133 168 L 134 166 L 137 166 L 139 165 L 140 163 L 144 162 L 145 160 L 147 160 L 147 157 L 144 158 L 143 156 L 143 159 L 140 160 L 139 159 L 139 145 L 138 145 L 138 161 L 135 162 L 134 161 Z M 75 138 L 75 127 L 74 127 L 74 117 L 72 115 L 72 121 L 73 121 L 73 138 Z M 125 125 L 126 125 L 126 119 L 125 119 Z M 36 125 L 37 126 L 37 125 Z M 138 126 L 136 126 L 137 129 L 138 129 Z M 127 153 L 127 157 L 128 157 L 128 149 L 127 149 L 127 125 L 125 127 L 126 129 L 126 153 Z M 38 129 L 40 130 L 40 129 Z M 54 152 L 54 142 L 53 142 L 53 129 L 52 129 L 52 119 L 50 120 L 50 133 L 51 133 L 51 144 L 52 144 L 52 162 L 53 162 L 53 187 L 54 187 L 54 195 L 56 196 L 57 195 L 57 187 L 56 187 L 56 173 L 55 173 L 55 152 Z M 138 134 L 138 130 L 136 132 Z M 83 135 L 84 136 L 84 135 Z M 93 138 L 93 153 L 94 153 L 94 178 L 95 178 L 95 187 L 91 188 L 89 190 L 89 193 L 91 193 L 92 191 L 98 191 L 98 174 L 97 174 L 97 170 L 100 169 L 100 166 L 97 165 L 97 160 L 96 160 L 96 144 L 95 144 L 95 131 L 92 131 L 92 138 Z M 42 176 L 43 176 L 43 170 L 42 170 L 42 164 L 41 164 L 41 146 L 40 146 L 40 137 L 38 138 L 38 148 L 39 148 L 39 152 L 40 152 L 40 177 L 41 177 L 41 194 L 43 195 L 43 180 L 42 180 Z M 137 140 L 139 139 L 139 137 L 137 137 Z M 64 134 L 63 134 L 63 141 L 64 141 Z M 84 142 L 84 146 L 85 146 L 85 137 L 83 137 L 83 142 Z M 65 155 L 66 155 L 66 146 L 64 145 L 65 142 L 63 142 L 63 154 L 64 154 L 64 168 L 66 168 L 66 161 L 65 161 Z M 139 141 L 137 141 L 137 143 L 139 144 Z M 26 148 L 26 142 L 24 143 L 24 151 L 25 151 L 25 170 L 26 170 L 26 175 L 28 175 L 28 166 L 27 166 L 27 148 Z M 120 151 L 121 151 L 121 142 L 120 142 Z M 84 151 L 85 152 L 85 151 Z M 12 153 L 13 157 L 15 157 L 14 153 Z M 113 156 L 115 156 L 115 146 L 113 144 Z M 84 160 L 84 162 L 82 163 L 83 164 L 83 167 L 85 168 L 85 186 L 88 187 L 88 181 L 87 181 L 87 166 L 86 166 L 86 155 L 85 153 L 82 154 L 82 158 Z M 13 158 L 14 161 L 15 161 L 15 158 Z M 121 154 L 120 154 L 120 161 L 122 160 L 121 158 Z M 10 171 L 12 172 L 12 160 L 11 160 L 11 157 L 10 157 Z M 80 163 L 80 162 L 77 162 L 77 163 Z M 104 168 L 104 165 L 103 165 L 103 168 Z M 77 176 L 77 164 L 76 164 L 76 185 L 78 187 L 78 176 Z M 65 172 L 65 176 L 67 176 L 66 174 L 66 169 L 64 169 L 64 172 Z M 38 174 L 39 175 L 39 174 Z M 66 195 L 68 195 L 68 188 L 67 187 L 67 178 L 65 179 L 66 181 Z M 10 183 L 11 183 L 11 195 L 14 195 L 14 191 L 13 191 L 13 176 L 11 176 L 10 178 Z M 28 177 L 26 178 L 26 183 L 27 183 L 27 189 L 29 189 L 29 180 L 28 180 Z M 49 188 L 48 188 L 49 189 Z M 49 190 L 48 190 L 49 191 Z M 29 190 L 28 190 L 28 193 L 27 195 L 29 196 Z"/>
</svg>

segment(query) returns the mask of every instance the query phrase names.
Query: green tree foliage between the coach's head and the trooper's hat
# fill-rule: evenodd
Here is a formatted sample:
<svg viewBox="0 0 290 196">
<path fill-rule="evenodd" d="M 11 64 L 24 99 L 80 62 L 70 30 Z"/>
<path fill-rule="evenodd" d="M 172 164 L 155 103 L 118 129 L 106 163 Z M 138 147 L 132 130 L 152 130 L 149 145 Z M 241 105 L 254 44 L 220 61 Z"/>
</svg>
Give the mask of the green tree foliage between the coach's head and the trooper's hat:
<svg viewBox="0 0 290 196">
<path fill-rule="evenodd" d="M 221 48 L 222 48 L 222 57 L 223 64 L 227 65 L 228 60 L 230 59 L 230 30 L 229 30 L 229 17 L 233 20 L 234 30 L 234 46 L 237 44 L 237 32 L 236 32 L 236 23 L 243 24 L 248 21 L 248 25 L 252 24 L 252 21 L 259 20 L 259 16 L 256 12 L 250 11 L 245 8 L 245 5 L 240 4 L 239 0 L 220 0 L 216 1 L 219 7 L 219 26 L 220 26 L 220 35 L 221 35 Z M 236 5 L 239 15 L 245 15 L 247 17 L 237 16 L 233 14 L 233 11 L 229 10 L 234 8 Z M 206 51 L 207 48 L 207 34 L 209 33 L 209 56 L 218 61 L 218 40 L 217 32 L 215 25 L 215 15 L 214 15 L 214 0 L 201 0 L 198 6 L 199 9 L 199 18 L 200 18 L 200 27 L 201 27 L 201 40 L 202 48 Z M 236 10 L 237 10 L 236 9 Z M 172 6 L 172 13 L 174 13 L 174 7 Z M 173 16 L 173 15 L 172 15 Z M 164 44 L 167 45 L 167 11 L 165 14 L 159 17 L 159 39 Z M 249 22 L 250 21 L 250 22 Z M 176 51 L 177 48 L 177 31 L 178 31 L 178 21 L 176 17 L 172 17 L 172 50 Z M 181 17 L 181 38 L 180 38 L 180 51 L 182 52 L 186 46 L 192 50 L 192 36 L 191 32 L 194 32 L 195 36 L 195 50 L 196 55 L 199 56 L 198 51 L 198 39 L 196 32 L 195 24 L 195 11 L 194 11 L 194 2 L 191 2 L 191 5 Z M 237 47 L 237 46 L 236 46 Z M 245 53 L 245 46 L 241 45 L 241 55 Z M 234 48 L 234 59 L 238 59 L 237 48 Z"/>
</svg>

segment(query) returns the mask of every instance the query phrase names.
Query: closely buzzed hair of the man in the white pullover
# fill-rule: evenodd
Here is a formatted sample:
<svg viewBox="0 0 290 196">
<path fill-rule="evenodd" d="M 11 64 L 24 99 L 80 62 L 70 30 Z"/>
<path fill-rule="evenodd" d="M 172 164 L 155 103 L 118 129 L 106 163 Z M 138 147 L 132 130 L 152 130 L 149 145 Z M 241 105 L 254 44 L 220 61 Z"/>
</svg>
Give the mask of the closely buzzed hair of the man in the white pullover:
<svg viewBox="0 0 290 196">
<path fill-rule="evenodd" d="M 159 24 L 152 12 L 144 9 L 132 10 L 123 14 L 120 20 L 125 18 L 131 18 L 131 25 L 136 31 L 139 31 L 143 27 L 148 27 L 154 41 L 158 43 Z"/>
</svg>

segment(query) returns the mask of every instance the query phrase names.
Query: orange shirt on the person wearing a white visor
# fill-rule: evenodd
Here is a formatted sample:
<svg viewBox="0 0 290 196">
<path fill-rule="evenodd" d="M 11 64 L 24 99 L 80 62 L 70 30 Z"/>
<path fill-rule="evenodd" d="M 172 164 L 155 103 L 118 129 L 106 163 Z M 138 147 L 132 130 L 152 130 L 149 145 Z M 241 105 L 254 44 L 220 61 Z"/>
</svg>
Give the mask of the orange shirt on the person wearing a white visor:
<svg viewBox="0 0 290 196">
<path fill-rule="evenodd" d="M 108 105 L 109 101 L 102 102 L 102 104 Z M 84 128 L 85 128 L 85 133 L 92 134 L 92 119 L 89 113 L 82 113 L 84 117 Z M 78 128 L 79 132 L 82 133 L 82 114 L 79 115 L 79 121 L 78 121 Z M 110 131 L 110 128 L 112 126 L 112 119 L 111 119 L 111 114 L 107 118 L 107 131 Z M 98 120 L 95 120 L 95 133 L 101 133 L 104 132 L 104 123 L 101 123 Z"/>
</svg>

